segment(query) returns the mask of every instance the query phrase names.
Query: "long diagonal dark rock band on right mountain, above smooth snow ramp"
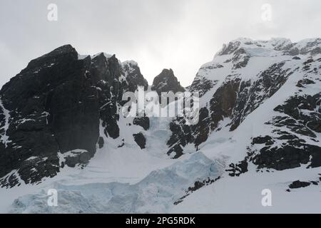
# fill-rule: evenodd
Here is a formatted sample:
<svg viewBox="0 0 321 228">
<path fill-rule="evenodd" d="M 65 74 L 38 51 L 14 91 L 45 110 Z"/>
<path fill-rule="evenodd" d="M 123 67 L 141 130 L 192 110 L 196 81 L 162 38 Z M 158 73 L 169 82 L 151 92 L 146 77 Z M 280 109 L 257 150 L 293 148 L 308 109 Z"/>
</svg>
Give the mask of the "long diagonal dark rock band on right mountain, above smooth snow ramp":
<svg viewBox="0 0 321 228">
<path fill-rule="evenodd" d="M 170 150 L 175 158 L 183 155 L 183 147 L 188 143 L 198 145 L 208 139 L 213 130 L 220 130 L 219 123 L 230 118 L 230 130 L 235 130 L 245 118 L 267 98 L 280 89 L 291 75 L 290 69 L 283 69 L 284 62 L 273 64 L 258 75 L 258 79 L 242 81 L 236 76 L 228 76 L 214 93 L 207 107 L 200 108 L 200 120 L 197 125 L 185 125 L 184 120 L 173 121 L 172 136 L 168 140 Z M 179 126 L 181 125 L 181 126 Z"/>
</svg>

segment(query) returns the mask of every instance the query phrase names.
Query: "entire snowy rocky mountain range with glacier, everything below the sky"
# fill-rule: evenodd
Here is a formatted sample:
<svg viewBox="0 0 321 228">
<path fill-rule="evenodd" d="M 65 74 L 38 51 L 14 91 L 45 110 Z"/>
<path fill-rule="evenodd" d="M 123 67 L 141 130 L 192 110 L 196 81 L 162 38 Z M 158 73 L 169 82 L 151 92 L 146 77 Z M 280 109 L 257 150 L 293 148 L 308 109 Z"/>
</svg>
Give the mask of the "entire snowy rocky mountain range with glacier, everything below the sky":
<svg viewBox="0 0 321 228">
<path fill-rule="evenodd" d="M 0 90 L 0 212 L 320 212 L 320 76 L 320 38 L 238 38 L 188 87 L 188 125 L 121 115 L 138 86 L 183 92 L 171 69 L 148 87 L 134 61 L 57 48 Z"/>
</svg>

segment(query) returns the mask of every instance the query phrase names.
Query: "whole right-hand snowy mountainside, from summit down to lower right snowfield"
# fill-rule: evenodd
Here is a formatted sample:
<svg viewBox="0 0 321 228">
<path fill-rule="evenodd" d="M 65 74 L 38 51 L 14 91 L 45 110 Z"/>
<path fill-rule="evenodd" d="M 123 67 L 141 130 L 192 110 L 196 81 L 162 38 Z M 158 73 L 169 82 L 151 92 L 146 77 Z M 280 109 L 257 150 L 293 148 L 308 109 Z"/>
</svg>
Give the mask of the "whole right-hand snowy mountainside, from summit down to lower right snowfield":
<svg viewBox="0 0 321 228">
<path fill-rule="evenodd" d="M 249 57 L 246 63 L 246 58 L 235 58 L 240 48 Z M 215 125 L 197 148 L 213 160 L 225 160 L 226 172 L 171 212 L 321 212 L 320 57 L 320 39 L 290 43 L 241 38 L 200 68 L 190 89 L 198 90 L 199 81 L 213 85 L 201 99 L 213 112 L 207 123 Z M 243 66 L 235 67 L 240 61 Z M 230 81 L 239 81 L 230 90 L 235 93 L 233 105 L 215 119 L 218 108 L 210 109 L 210 103 L 215 94 L 222 95 L 220 88 L 223 98 L 230 99 Z M 235 120 L 240 121 L 233 127 Z M 192 130 L 197 136 L 204 128 Z M 184 152 L 190 152 L 190 143 Z M 272 207 L 263 207 L 263 190 L 271 192 Z"/>
</svg>

